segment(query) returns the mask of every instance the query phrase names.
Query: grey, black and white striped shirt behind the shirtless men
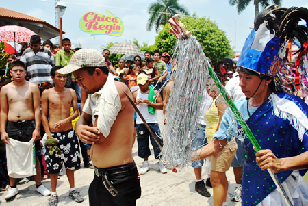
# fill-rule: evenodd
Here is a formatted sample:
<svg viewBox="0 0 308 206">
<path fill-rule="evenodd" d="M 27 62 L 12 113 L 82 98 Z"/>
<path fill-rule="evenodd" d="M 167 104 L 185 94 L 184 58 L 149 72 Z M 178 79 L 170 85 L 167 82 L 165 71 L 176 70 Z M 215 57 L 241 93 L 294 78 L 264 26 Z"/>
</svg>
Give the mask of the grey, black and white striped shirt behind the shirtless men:
<svg viewBox="0 0 308 206">
<path fill-rule="evenodd" d="M 30 82 L 40 84 L 43 81 L 49 81 L 53 83 L 50 71 L 55 66 L 55 59 L 49 49 L 41 47 L 38 53 L 34 53 L 31 48 L 28 48 L 23 52 L 21 61 L 25 63 Z"/>
</svg>

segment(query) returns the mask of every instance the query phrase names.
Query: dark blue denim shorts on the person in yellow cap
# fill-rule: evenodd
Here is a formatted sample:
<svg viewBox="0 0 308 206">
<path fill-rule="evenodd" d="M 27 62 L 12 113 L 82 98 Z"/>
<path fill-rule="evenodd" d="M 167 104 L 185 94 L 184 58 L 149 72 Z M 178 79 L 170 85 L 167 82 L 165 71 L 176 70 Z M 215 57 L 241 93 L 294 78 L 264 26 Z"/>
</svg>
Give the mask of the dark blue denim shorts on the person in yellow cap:
<svg viewBox="0 0 308 206">
<path fill-rule="evenodd" d="M 162 134 L 160 133 L 159 126 L 157 123 L 149 123 L 148 124 L 150 129 L 153 131 L 155 138 L 157 138 L 157 141 L 161 146 L 163 146 L 162 141 Z M 155 159 L 159 158 L 160 149 L 157 143 L 155 142 L 154 138 L 151 136 L 151 133 L 146 129 L 146 126 L 144 124 L 137 124 L 137 142 L 138 142 L 138 156 L 141 158 L 146 158 L 151 155 L 151 151 L 149 148 L 149 136 L 151 140 L 151 144 L 154 149 L 154 155 Z"/>
</svg>

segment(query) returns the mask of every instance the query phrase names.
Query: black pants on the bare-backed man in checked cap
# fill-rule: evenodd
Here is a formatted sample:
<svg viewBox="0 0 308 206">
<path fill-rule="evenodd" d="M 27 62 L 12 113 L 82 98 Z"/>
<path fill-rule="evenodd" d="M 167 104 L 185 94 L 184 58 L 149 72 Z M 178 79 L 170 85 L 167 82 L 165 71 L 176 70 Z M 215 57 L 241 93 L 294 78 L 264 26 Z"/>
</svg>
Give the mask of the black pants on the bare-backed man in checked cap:
<svg viewBox="0 0 308 206">
<path fill-rule="evenodd" d="M 118 191 L 117 196 L 112 196 L 103 185 L 102 177 L 94 175 L 94 179 L 89 187 L 90 206 L 131 206 L 136 205 L 136 200 L 141 196 L 140 179 L 135 162 L 135 167 L 127 172 L 120 174 L 107 175 L 108 180 Z M 129 164 L 127 164 L 129 165 Z M 127 166 L 125 165 L 125 166 Z M 102 168 L 103 170 L 112 170 L 112 173 L 121 166 L 112 168 Z M 119 169 L 120 171 L 120 169 Z"/>
</svg>

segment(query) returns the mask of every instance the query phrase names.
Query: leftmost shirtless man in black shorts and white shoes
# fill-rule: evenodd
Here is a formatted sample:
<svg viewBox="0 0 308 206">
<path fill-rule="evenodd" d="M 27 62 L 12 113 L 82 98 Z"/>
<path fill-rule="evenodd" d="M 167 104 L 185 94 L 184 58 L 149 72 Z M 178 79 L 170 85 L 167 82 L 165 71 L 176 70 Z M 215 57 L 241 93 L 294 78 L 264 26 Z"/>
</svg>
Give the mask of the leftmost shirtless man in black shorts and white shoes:
<svg viewBox="0 0 308 206">
<path fill-rule="evenodd" d="M 21 142 L 29 142 L 34 138 L 36 151 L 40 150 L 40 92 L 36 84 L 25 81 L 25 64 L 21 61 L 12 63 L 10 75 L 12 83 L 8 83 L 1 89 L 1 140 L 10 144 L 10 139 Z M 23 158 L 23 157 L 21 157 Z M 7 157 L 8 162 L 14 159 Z M 40 179 L 40 162 L 36 157 L 36 191 L 44 196 L 51 192 L 42 185 Z M 10 177 L 10 189 L 5 200 L 13 198 L 18 194 L 16 178 Z"/>
</svg>

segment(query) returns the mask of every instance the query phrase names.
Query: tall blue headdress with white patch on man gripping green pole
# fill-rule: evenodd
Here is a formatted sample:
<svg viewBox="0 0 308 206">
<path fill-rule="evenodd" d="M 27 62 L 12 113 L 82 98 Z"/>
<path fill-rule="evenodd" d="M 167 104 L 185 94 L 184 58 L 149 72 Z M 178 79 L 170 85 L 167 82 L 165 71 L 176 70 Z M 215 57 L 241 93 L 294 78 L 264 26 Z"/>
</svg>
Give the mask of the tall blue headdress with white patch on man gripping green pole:
<svg viewBox="0 0 308 206">
<path fill-rule="evenodd" d="M 280 39 L 276 34 L 286 10 L 270 5 L 257 15 L 255 27 L 244 43 L 238 66 L 271 77 L 276 75 L 277 71 L 269 68 L 280 49 Z"/>
</svg>

